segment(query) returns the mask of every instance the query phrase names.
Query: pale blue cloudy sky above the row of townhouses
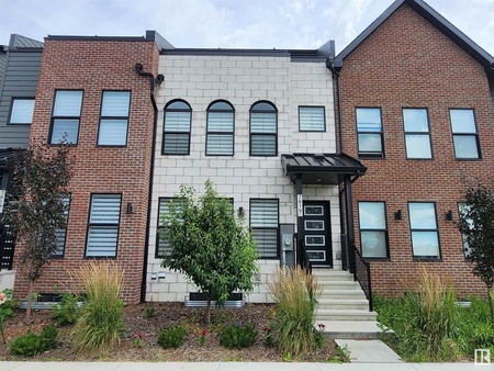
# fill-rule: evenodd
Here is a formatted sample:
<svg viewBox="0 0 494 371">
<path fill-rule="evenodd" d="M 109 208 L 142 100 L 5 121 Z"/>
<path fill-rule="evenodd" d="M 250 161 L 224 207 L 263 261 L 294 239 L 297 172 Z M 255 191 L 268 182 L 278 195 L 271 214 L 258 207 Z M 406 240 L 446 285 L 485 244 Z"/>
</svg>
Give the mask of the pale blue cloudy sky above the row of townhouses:
<svg viewBox="0 0 494 371">
<path fill-rule="evenodd" d="M 0 0 L 0 44 L 18 33 L 141 36 L 176 47 L 317 48 L 337 52 L 393 0 Z M 494 55 L 494 0 L 427 0 Z"/>
</svg>

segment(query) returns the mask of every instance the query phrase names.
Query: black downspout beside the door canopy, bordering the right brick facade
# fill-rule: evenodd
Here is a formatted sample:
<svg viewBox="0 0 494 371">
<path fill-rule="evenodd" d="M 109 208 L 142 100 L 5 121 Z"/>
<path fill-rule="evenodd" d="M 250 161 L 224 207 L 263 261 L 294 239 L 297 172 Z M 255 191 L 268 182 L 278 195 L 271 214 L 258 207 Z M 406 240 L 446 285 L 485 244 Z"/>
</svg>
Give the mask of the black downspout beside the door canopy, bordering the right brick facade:
<svg viewBox="0 0 494 371">
<path fill-rule="evenodd" d="M 336 71 L 335 66 L 333 65 L 333 60 L 328 59 L 326 61 L 326 67 L 332 71 L 333 74 L 333 91 L 337 90 L 337 94 L 335 94 L 338 100 L 338 103 L 336 103 L 336 99 L 333 101 L 335 111 L 338 110 L 338 124 L 339 124 L 339 153 L 344 153 L 344 140 L 343 140 L 343 120 L 341 120 L 341 86 L 339 82 L 339 74 Z M 338 104 L 338 105 L 336 105 Z M 347 270 L 347 235 L 345 233 L 345 200 L 344 200 L 344 191 L 338 186 L 338 196 L 339 196 L 339 225 L 341 229 L 341 269 Z M 345 193 L 346 196 L 346 193 Z"/>
</svg>

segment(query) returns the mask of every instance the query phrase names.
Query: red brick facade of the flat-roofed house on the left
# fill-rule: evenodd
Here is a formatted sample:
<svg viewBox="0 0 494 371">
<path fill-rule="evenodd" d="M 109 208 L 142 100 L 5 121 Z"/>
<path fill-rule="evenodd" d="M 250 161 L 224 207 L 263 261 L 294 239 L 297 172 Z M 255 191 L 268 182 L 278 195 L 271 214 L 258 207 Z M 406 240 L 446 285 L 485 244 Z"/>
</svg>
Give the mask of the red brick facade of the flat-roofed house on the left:
<svg viewBox="0 0 494 371">
<path fill-rule="evenodd" d="M 91 193 L 121 193 L 122 207 L 116 261 L 124 269 L 124 300 L 138 302 L 145 256 L 149 172 L 151 169 L 154 110 L 149 78 L 135 71 L 135 64 L 155 76 L 158 49 L 154 42 L 46 40 L 37 83 L 31 140 L 48 138 L 56 89 L 83 90 L 79 140 L 71 149 L 76 161 L 69 186 L 71 203 L 63 259 L 53 259 L 36 282 L 34 292 L 52 293 L 54 286 L 69 289 L 70 272 L 85 258 Z M 131 90 L 127 145 L 98 147 L 102 90 Z M 126 204 L 132 203 L 132 214 Z M 14 268 L 22 250 L 16 247 Z M 27 282 L 21 273 L 15 294 L 25 296 Z"/>
</svg>

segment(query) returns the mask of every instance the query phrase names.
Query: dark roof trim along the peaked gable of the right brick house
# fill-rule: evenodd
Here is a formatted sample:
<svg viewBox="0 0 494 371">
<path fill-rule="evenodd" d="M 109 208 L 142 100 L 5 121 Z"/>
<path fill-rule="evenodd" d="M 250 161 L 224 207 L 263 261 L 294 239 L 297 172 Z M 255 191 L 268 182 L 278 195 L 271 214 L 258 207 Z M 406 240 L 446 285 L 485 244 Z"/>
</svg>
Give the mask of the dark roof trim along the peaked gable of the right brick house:
<svg viewBox="0 0 494 371">
<path fill-rule="evenodd" d="M 374 22 L 372 22 L 360 35 L 358 35 L 345 49 L 343 49 L 334 59 L 334 67 L 340 69 L 344 59 L 353 52 L 369 35 L 374 32 L 388 18 L 395 12 L 402 4 L 406 3 L 424 19 L 430 22 L 452 42 L 467 52 L 472 58 L 480 63 L 486 70 L 494 70 L 494 58 L 476 45 L 470 37 L 458 30 L 452 23 L 446 20 L 441 14 L 430 8 L 422 0 L 396 0 Z"/>
</svg>

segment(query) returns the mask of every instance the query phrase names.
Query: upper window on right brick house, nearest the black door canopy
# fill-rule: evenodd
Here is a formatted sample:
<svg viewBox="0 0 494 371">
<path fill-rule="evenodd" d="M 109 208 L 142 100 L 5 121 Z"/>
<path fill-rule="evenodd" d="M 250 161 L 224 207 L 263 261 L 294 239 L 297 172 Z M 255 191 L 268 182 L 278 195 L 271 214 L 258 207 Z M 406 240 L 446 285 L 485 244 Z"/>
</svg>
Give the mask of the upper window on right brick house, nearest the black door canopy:
<svg viewBox="0 0 494 371">
<path fill-rule="evenodd" d="M 356 109 L 359 157 L 384 157 L 381 109 Z"/>
</svg>

